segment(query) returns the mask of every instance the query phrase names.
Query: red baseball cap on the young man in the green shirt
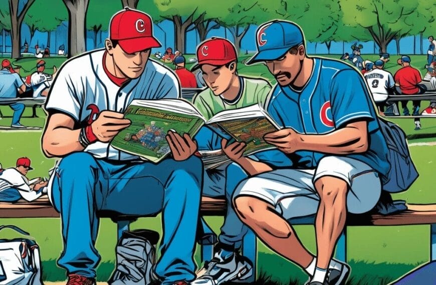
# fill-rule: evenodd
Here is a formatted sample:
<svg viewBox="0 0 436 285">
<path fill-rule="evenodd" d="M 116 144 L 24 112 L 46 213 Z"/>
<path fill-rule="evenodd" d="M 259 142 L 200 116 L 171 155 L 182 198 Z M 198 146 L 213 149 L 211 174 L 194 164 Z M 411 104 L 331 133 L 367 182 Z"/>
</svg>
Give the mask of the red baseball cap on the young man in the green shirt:
<svg viewBox="0 0 436 285">
<path fill-rule="evenodd" d="M 202 64 L 224 65 L 237 60 L 236 48 L 233 43 L 221 37 L 211 37 L 197 47 L 198 63 L 191 70 L 197 69 Z"/>
</svg>

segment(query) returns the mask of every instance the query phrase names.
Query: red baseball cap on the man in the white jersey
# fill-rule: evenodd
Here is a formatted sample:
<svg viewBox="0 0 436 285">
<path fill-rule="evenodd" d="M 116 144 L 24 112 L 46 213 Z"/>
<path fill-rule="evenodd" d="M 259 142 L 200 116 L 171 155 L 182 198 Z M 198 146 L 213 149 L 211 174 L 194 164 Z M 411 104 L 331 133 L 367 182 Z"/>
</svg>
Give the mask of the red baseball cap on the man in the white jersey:
<svg viewBox="0 0 436 285">
<path fill-rule="evenodd" d="M 144 12 L 129 7 L 125 7 L 124 10 L 113 15 L 110 22 L 109 37 L 118 40 L 118 44 L 127 53 L 162 46 L 153 37 L 151 17 Z"/>
</svg>

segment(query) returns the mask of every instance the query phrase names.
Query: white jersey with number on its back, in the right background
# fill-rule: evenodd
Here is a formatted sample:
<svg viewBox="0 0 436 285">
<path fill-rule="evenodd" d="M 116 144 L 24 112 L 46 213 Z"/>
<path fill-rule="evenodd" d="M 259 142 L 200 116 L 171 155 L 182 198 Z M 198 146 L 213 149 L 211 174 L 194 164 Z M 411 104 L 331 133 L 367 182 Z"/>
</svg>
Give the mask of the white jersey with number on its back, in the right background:
<svg viewBox="0 0 436 285">
<path fill-rule="evenodd" d="M 374 101 L 385 101 L 387 98 L 387 88 L 395 85 L 392 73 L 389 71 L 374 68 L 364 74 Z"/>
</svg>

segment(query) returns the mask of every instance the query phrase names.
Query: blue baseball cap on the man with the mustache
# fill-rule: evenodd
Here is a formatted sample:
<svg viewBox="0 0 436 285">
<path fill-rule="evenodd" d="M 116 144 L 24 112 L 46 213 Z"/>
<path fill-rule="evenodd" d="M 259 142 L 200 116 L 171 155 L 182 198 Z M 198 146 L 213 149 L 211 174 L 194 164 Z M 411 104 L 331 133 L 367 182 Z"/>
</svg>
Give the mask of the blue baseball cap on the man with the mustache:
<svg viewBox="0 0 436 285">
<path fill-rule="evenodd" d="M 266 22 L 256 31 L 257 53 L 246 64 L 280 58 L 291 47 L 303 43 L 303 31 L 296 23 L 286 20 Z"/>
</svg>

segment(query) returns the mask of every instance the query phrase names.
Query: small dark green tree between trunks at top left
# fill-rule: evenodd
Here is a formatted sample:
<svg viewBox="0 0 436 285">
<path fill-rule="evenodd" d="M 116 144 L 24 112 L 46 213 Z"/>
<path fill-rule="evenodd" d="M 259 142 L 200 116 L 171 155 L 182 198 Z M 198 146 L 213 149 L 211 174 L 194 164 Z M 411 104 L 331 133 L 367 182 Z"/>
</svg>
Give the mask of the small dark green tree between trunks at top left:
<svg viewBox="0 0 436 285">
<path fill-rule="evenodd" d="M 46 46 L 50 47 L 51 31 L 55 30 L 67 18 L 68 11 L 62 1 L 52 1 L 50 9 L 47 9 L 46 0 L 35 0 L 24 18 L 24 22 L 30 28 L 30 41 L 32 41 L 36 30 L 47 32 Z"/>
</svg>

